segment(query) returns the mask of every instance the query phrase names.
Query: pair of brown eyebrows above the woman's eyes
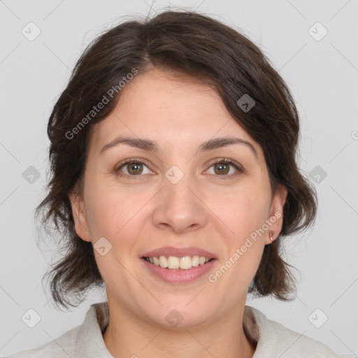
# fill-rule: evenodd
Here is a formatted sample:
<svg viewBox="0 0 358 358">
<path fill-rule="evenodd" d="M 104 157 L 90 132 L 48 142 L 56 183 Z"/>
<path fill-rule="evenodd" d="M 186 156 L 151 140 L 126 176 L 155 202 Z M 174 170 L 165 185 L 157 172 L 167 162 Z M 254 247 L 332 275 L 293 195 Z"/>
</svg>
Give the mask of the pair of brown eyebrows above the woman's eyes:
<svg viewBox="0 0 358 358">
<path fill-rule="evenodd" d="M 99 152 L 99 155 L 101 155 L 106 150 L 121 144 L 129 145 L 130 147 L 138 148 L 141 150 L 149 150 L 155 153 L 160 152 L 158 143 L 155 141 L 151 141 L 150 139 L 117 136 L 117 138 L 115 138 L 113 141 L 110 141 L 109 143 L 103 146 L 101 152 Z M 246 145 L 248 148 L 250 148 L 250 150 L 253 152 L 255 157 L 257 157 L 257 151 L 250 142 L 245 141 L 242 138 L 237 138 L 232 136 L 214 138 L 214 139 L 210 139 L 209 141 L 203 142 L 199 145 L 198 152 L 207 152 L 209 150 L 215 150 L 217 148 L 223 148 L 223 147 L 227 147 L 228 145 L 236 145 L 236 144 Z"/>
</svg>

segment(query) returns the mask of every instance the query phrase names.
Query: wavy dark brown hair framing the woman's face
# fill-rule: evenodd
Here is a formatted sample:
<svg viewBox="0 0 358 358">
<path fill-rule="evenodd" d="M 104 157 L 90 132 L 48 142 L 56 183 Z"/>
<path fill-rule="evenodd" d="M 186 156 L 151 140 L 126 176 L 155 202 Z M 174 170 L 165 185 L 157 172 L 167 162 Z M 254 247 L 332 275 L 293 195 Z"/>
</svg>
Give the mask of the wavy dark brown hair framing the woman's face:
<svg viewBox="0 0 358 358">
<path fill-rule="evenodd" d="M 236 29 L 190 10 L 129 20 L 101 34 L 80 57 L 55 103 L 48 122 L 52 176 L 48 195 L 36 208 L 43 224 L 55 223 L 64 250 L 46 273 L 52 298 L 64 307 L 76 306 L 70 296 L 83 301 L 88 289 L 103 285 L 92 243 L 76 234 L 69 193 L 81 187 L 90 128 L 111 113 L 129 73 L 140 76 L 153 67 L 185 73 L 215 88 L 229 113 L 262 146 L 273 194 L 278 184 L 287 188 L 282 231 L 265 246 L 249 292 L 288 300 L 295 279 L 282 259 L 280 241 L 309 227 L 317 210 L 315 189 L 296 164 L 299 115 L 294 100 L 257 45 Z M 244 94 L 255 100 L 247 112 L 237 103 Z M 108 103 L 94 113 L 104 96 Z"/>
</svg>

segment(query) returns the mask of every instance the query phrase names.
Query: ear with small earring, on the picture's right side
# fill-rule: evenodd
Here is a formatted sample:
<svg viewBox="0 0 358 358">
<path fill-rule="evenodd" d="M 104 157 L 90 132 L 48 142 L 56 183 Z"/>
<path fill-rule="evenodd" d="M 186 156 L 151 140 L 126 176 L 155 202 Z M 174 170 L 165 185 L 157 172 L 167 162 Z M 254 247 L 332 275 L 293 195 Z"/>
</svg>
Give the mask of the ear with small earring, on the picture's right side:
<svg viewBox="0 0 358 358">
<path fill-rule="evenodd" d="M 284 185 L 278 185 L 278 190 L 272 198 L 269 214 L 267 217 L 268 230 L 265 236 L 265 245 L 273 243 L 281 232 L 283 222 L 283 206 L 287 197 L 287 188 Z M 270 238 L 272 233 L 273 241 Z"/>
</svg>

